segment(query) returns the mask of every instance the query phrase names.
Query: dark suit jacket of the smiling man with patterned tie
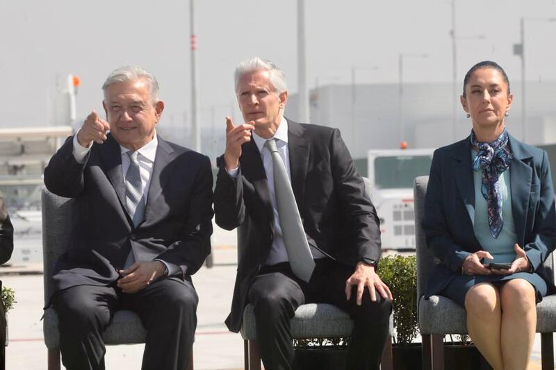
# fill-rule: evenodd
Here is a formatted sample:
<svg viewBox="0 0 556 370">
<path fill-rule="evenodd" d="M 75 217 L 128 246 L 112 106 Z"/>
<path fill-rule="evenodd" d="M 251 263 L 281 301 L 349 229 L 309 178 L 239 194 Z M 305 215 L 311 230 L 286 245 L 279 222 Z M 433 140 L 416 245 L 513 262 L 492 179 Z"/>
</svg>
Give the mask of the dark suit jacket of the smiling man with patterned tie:
<svg viewBox="0 0 556 370">
<path fill-rule="evenodd" d="M 145 218 L 134 227 L 125 207 L 120 145 L 109 134 L 79 164 L 69 137 L 44 169 L 48 190 L 76 199 L 70 249 L 56 264 L 51 293 L 113 283 L 131 249 L 136 260 L 177 264 L 178 280 L 194 274 L 211 251 L 212 182 L 206 156 L 158 136 Z"/>
</svg>

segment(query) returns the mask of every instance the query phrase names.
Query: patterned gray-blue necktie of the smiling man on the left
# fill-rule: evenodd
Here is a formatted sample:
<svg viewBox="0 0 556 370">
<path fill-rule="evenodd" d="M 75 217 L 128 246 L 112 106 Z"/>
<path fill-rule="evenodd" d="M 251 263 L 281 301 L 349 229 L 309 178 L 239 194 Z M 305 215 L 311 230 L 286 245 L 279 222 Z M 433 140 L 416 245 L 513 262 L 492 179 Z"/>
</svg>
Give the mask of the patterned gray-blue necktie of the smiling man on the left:
<svg viewBox="0 0 556 370">
<path fill-rule="evenodd" d="M 141 185 L 141 174 L 136 151 L 127 151 L 129 156 L 129 168 L 126 172 L 126 208 L 131 216 L 133 226 L 137 226 L 145 214 L 145 196 Z M 130 267 L 135 262 L 133 249 L 129 251 L 124 268 Z"/>
</svg>

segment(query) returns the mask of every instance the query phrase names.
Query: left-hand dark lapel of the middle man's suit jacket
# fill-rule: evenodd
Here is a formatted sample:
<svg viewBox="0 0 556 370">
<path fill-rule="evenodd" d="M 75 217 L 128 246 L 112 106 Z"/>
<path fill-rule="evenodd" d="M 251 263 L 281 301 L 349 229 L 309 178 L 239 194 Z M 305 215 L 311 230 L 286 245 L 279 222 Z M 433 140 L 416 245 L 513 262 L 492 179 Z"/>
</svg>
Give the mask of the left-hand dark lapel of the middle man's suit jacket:
<svg viewBox="0 0 556 370">
<path fill-rule="evenodd" d="M 240 157 L 241 172 L 245 178 L 250 180 L 256 193 L 259 194 L 265 213 L 268 215 L 272 229 L 274 229 L 274 211 L 270 201 L 270 190 L 268 190 L 268 180 L 261 159 L 261 152 L 256 147 L 254 140 L 243 144 L 242 151 Z"/>
</svg>

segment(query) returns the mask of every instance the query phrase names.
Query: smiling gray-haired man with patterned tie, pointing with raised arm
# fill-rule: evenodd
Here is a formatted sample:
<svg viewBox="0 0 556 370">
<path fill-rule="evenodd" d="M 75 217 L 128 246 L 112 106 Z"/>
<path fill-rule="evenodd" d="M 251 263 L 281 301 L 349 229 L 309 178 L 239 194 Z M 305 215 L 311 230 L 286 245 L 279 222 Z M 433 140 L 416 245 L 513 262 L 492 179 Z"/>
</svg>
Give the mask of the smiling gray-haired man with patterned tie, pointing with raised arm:
<svg viewBox="0 0 556 370">
<path fill-rule="evenodd" d="M 156 78 L 115 69 L 96 112 L 44 170 L 75 199 L 74 235 L 56 264 L 50 303 L 67 369 L 104 369 L 102 334 L 115 310 L 147 329 L 142 369 L 187 369 L 197 325 L 191 276 L 210 253 L 212 172 L 204 155 L 163 140 Z"/>
</svg>

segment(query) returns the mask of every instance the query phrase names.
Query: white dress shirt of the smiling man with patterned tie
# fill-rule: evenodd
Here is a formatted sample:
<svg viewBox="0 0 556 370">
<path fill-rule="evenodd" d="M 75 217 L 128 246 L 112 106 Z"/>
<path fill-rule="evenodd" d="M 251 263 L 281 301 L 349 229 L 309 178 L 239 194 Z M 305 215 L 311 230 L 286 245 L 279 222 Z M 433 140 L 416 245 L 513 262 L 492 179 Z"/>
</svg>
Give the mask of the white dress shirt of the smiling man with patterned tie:
<svg viewBox="0 0 556 370">
<path fill-rule="evenodd" d="M 79 131 L 78 131 L 79 132 Z M 85 148 L 79 144 L 77 140 L 77 134 L 74 135 L 74 158 L 78 163 L 85 162 L 85 156 L 89 153 L 91 147 L 95 144 L 94 142 L 88 147 Z M 156 132 L 154 133 L 154 138 L 145 146 L 142 146 L 140 149 L 137 150 L 137 161 L 139 162 L 139 173 L 141 176 L 141 187 L 143 190 L 143 199 L 145 200 L 145 204 L 147 203 L 147 195 L 149 194 L 149 186 L 151 185 L 151 176 L 152 176 L 152 169 L 154 167 L 154 158 L 156 158 L 156 149 L 158 148 L 158 137 L 156 137 Z M 127 169 L 129 169 L 130 159 L 129 155 L 126 153 L 130 151 L 130 149 L 125 148 L 124 146 L 120 145 L 120 153 L 122 154 L 122 173 L 124 175 L 124 181 L 126 178 Z M 176 264 L 167 263 L 163 260 L 159 260 L 158 258 L 155 261 L 160 261 L 165 264 L 168 275 L 177 274 L 180 269 Z"/>
</svg>

